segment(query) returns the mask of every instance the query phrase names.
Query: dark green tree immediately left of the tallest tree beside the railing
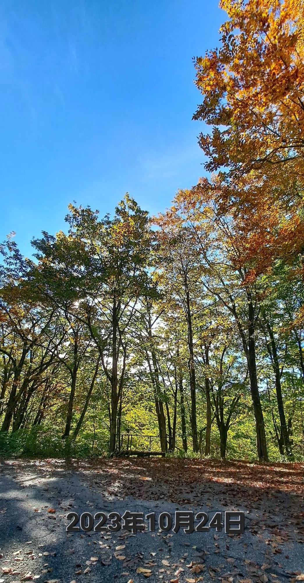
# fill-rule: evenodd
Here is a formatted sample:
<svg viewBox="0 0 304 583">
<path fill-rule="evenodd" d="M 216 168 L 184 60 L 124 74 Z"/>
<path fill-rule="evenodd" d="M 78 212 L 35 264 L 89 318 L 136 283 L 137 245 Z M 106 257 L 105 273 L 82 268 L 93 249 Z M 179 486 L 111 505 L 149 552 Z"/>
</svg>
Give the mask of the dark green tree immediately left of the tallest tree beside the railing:
<svg viewBox="0 0 304 583">
<path fill-rule="evenodd" d="M 83 319 L 81 303 L 84 297 L 82 265 L 87 256 L 82 242 L 62 231 L 56 237 L 44 233 L 42 238 L 32 243 L 38 265 L 32 266 L 28 285 L 34 288 L 33 294 L 37 300 L 49 305 L 53 311 L 55 338 L 50 339 L 52 352 L 70 379 L 65 429 L 62 433 L 62 438 L 66 438 L 72 427 L 80 364 L 84 359 L 92 357 L 91 333 Z"/>
</svg>

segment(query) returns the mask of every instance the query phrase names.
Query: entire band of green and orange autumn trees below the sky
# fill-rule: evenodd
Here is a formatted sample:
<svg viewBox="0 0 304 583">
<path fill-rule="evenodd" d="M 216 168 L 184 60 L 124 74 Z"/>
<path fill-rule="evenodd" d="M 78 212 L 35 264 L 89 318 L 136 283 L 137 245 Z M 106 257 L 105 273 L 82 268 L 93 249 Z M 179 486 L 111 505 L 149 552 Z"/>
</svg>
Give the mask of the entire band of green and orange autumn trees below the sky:
<svg viewBox="0 0 304 583">
<path fill-rule="evenodd" d="M 6 454 L 113 454 L 132 433 L 303 459 L 304 6 L 221 6 L 194 63 L 206 176 L 156 217 L 128 194 L 105 217 L 70 205 L 32 259 L 1 245 Z"/>
</svg>

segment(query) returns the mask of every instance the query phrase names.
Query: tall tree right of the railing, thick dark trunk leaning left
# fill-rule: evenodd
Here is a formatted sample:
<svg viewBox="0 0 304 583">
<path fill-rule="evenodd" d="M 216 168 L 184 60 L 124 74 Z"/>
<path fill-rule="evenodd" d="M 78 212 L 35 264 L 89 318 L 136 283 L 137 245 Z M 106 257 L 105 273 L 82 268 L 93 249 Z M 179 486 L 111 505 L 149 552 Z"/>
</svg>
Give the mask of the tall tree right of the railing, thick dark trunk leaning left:
<svg viewBox="0 0 304 583">
<path fill-rule="evenodd" d="M 256 333 L 259 318 L 259 290 L 256 280 L 248 281 L 243 266 L 242 238 L 233 217 L 223 215 L 210 192 L 202 186 L 180 191 L 173 207 L 192 230 L 193 240 L 203 265 L 202 285 L 206 293 L 218 298 L 234 318 L 246 356 L 254 417 L 257 453 L 267 461 L 267 444 L 256 369 Z"/>
</svg>

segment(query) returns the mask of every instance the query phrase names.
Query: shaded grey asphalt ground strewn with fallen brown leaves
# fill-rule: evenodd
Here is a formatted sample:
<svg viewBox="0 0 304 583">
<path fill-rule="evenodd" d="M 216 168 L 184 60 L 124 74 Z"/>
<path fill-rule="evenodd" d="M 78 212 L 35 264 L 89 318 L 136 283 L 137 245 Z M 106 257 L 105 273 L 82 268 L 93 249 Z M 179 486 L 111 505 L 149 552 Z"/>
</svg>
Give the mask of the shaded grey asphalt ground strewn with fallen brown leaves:
<svg viewBox="0 0 304 583">
<path fill-rule="evenodd" d="M 303 464 L 2 461 L 0 582 L 296 583 L 304 580 L 303 476 Z M 210 518 L 244 510 L 245 532 L 66 533 L 73 510 L 177 509 Z"/>
</svg>

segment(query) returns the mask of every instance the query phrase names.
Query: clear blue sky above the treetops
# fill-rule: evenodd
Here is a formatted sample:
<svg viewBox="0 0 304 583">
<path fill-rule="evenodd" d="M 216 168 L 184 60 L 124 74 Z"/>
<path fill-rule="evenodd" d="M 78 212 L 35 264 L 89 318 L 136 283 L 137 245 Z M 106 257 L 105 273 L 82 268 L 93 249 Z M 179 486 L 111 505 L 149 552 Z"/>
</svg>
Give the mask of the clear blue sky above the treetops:
<svg viewBox="0 0 304 583">
<path fill-rule="evenodd" d="M 224 20 L 217 0 L 2 0 L 0 240 L 29 255 L 69 202 L 157 213 L 195 184 L 192 57 Z"/>
</svg>

